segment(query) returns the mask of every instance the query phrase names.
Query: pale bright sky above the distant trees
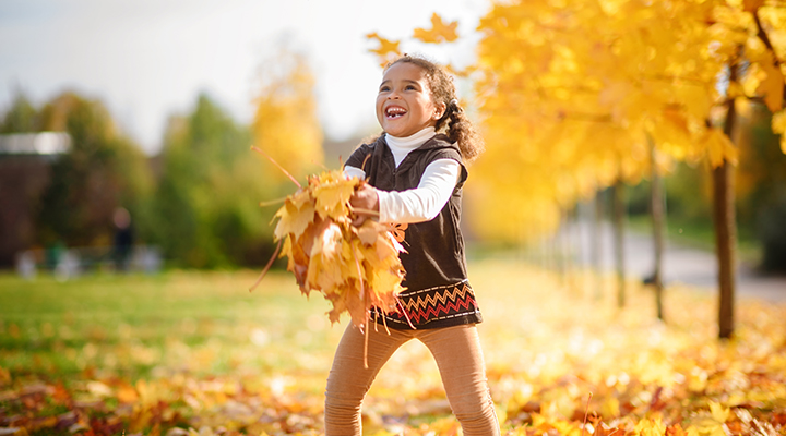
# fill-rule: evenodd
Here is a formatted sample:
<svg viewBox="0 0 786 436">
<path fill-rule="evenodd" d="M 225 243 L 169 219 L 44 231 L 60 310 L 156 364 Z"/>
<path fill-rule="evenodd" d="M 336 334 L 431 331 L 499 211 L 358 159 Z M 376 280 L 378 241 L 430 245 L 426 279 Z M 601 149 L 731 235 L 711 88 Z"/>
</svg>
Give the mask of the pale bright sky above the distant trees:
<svg viewBox="0 0 786 436">
<path fill-rule="evenodd" d="M 249 122 L 259 70 L 286 47 L 315 73 L 326 135 L 346 140 L 376 126 L 380 68 L 366 34 L 406 35 L 432 12 L 468 33 L 488 8 L 483 0 L 3 1 L 0 108 L 19 90 L 40 104 L 73 89 L 102 99 L 152 155 L 167 117 L 201 92 Z"/>
</svg>

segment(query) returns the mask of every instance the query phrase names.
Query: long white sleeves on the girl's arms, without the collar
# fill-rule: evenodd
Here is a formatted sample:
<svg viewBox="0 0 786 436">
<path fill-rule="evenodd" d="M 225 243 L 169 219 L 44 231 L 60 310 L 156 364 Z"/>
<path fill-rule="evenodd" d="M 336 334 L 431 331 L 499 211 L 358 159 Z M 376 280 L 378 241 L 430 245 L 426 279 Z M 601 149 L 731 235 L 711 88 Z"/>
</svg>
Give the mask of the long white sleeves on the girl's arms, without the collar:
<svg viewBox="0 0 786 436">
<path fill-rule="evenodd" d="M 344 167 L 349 177 L 365 178 L 359 168 Z M 380 222 L 422 222 L 433 219 L 450 199 L 461 175 L 461 165 L 453 159 L 429 164 L 418 186 L 406 191 L 378 190 Z"/>
</svg>

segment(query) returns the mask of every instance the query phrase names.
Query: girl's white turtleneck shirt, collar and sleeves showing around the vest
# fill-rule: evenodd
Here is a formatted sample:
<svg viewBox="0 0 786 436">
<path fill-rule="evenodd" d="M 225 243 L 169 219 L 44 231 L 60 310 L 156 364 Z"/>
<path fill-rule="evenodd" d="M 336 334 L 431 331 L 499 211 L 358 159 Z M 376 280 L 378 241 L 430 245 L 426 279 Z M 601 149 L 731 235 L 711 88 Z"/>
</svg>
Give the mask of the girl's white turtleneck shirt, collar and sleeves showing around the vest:
<svg viewBox="0 0 786 436">
<path fill-rule="evenodd" d="M 396 168 L 409 152 L 421 146 L 434 134 L 434 128 L 426 128 L 407 137 L 385 134 Z M 366 178 L 366 172 L 357 167 L 345 166 L 344 173 L 348 177 Z M 433 219 L 450 199 L 460 175 L 461 165 L 457 161 L 437 159 L 426 167 L 417 187 L 406 191 L 377 190 L 379 221 L 405 223 Z"/>
</svg>

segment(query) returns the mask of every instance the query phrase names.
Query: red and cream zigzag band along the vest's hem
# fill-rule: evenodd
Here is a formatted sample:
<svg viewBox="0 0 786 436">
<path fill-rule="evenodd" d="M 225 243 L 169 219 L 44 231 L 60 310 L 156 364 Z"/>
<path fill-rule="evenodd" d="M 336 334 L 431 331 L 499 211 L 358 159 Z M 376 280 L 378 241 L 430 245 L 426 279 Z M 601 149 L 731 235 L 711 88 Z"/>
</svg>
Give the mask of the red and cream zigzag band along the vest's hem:
<svg viewBox="0 0 786 436">
<path fill-rule="evenodd" d="M 415 328 L 434 328 L 481 320 L 475 292 L 466 280 L 413 292 L 405 291 L 398 295 L 398 312 L 385 315 L 385 322 L 394 328 L 412 328 L 409 323 Z M 406 315 L 402 310 L 406 311 Z"/>
</svg>

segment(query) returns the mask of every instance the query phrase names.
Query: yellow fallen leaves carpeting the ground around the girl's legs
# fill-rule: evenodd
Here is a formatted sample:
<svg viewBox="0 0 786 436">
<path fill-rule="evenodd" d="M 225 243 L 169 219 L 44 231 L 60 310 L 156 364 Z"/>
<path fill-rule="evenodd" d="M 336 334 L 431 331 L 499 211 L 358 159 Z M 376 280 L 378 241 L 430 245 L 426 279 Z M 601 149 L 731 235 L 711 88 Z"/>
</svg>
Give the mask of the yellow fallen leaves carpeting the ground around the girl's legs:
<svg viewBox="0 0 786 436">
<path fill-rule="evenodd" d="M 596 299 L 597 279 L 588 274 L 561 279 L 516 262 L 469 265 L 486 318 L 479 331 L 503 435 L 786 434 L 783 303 L 740 299 L 736 338 L 718 341 L 716 299 L 708 290 L 670 286 L 664 324 L 654 318 L 652 290 L 639 283 L 630 283 L 629 304 L 618 310 L 611 279 L 603 283 L 607 294 Z M 179 287 L 205 277 L 187 275 Z M 234 292 L 227 289 L 245 293 L 248 275 L 223 277 L 227 301 Z M 166 350 L 166 340 L 160 349 L 146 344 L 158 366 L 145 377 L 102 368 L 106 359 L 98 356 L 114 349 L 100 346 L 91 352 L 96 360 L 64 379 L 15 366 L 9 356 L 20 350 L 0 350 L 0 428 L 28 435 L 322 434 L 323 383 L 341 328 L 329 327 L 322 310 L 297 292 L 288 296 L 295 286 L 288 282 L 260 292 L 306 307 L 299 319 L 287 324 L 290 314 L 238 310 L 235 325 L 224 330 L 215 327 L 217 319 L 204 320 L 213 329 L 200 322 L 192 329 L 221 338 L 221 344 L 180 343 L 176 353 Z M 163 298 L 170 288 L 162 287 Z M 0 325 L 0 338 L 29 330 Z M 143 328 L 129 326 L 127 340 Z M 303 335 L 320 331 L 331 334 L 320 339 L 324 347 L 306 347 L 311 340 Z M 86 359 L 84 348 L 74 359 Z M 253 361 L 255 354 L 262 360 Z M 227 361 L 234 363 L 218 364 Z M 364 404 L 364 423 L 369 435 L 461 434 L 424 346 L 407 343 L 385 365 Z"/>
</svg>

